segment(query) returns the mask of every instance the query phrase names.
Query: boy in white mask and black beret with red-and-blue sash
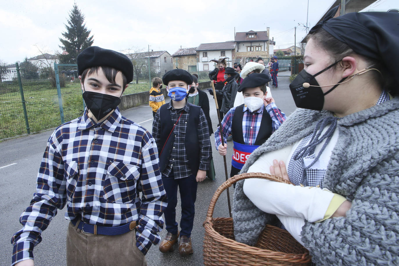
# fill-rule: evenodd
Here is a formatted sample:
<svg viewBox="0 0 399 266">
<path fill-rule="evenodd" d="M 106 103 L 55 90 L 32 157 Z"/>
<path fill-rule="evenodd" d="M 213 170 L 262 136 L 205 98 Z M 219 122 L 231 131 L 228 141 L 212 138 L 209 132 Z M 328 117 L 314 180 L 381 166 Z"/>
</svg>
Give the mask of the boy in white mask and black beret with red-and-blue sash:
<svg viewBox="0 0 399 266">
<path fill-rule="evenodd" d="M 230 177 L 237 175 L 247 157 L 284 122 L 286 116 L 267 97 L 266 83 L 269 81 L 263 73 L 252 73 L 243 79 L 238 91 L 243 92 L 244 104 L 233 107 L 224 116 L 221 126 L 223 137 L 233 136 L 233 158 Z M 227 144 L 221 144 L 219 127 L 215 132 L 215 146 L 221 156 L 227 153 Z"/>
</svg>

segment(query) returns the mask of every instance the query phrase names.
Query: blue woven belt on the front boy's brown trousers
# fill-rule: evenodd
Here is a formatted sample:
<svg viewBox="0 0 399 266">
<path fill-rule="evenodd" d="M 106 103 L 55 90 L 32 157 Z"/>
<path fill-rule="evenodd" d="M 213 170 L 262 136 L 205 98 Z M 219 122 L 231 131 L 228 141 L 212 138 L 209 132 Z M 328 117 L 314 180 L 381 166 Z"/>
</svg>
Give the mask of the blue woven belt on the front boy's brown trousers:
<svg viewBox="0 0 399 266">
<path fill-rule="evenodd" d="M 73 226 L 76 225 L 77 221 L 79 221 L 78 228 L 87 234 L 105 234 L 107 236 L 115 236 L 118 234 L 127 233 L 136 228 L 136 221 L 132 221 L 130 223 L 126 223 L 120 226 L 110 227 L 110 226 L 101 226 L 101 225 L 91 225 L 89 223 L 84 223 L 79 219 L 75 219 L 71 220 Z"/>
</svg>

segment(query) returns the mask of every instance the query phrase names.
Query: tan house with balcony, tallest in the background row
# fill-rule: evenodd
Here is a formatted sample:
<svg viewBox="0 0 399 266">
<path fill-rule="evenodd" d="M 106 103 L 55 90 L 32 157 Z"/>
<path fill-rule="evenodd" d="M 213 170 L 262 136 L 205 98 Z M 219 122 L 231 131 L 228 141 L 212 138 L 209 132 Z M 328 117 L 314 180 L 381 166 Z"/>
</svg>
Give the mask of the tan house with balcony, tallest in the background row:
<svg viewBox="0 0 399 266">
<path fill-rule="evenodd" d="M 267 27 L 266 29 L 266 31 L 261 32 L 250 30 L 249 32 L 235 33 L 236 49 L 233 59 L 235 63 L 239 63 L 243 58 L 245 58 L 246 62 L 251 59 L 256 61 L 258 57 L 267 60 L 273 55 L 276 42 L 274 39 L 269 38 L 270 28 Z"/>
</svg>

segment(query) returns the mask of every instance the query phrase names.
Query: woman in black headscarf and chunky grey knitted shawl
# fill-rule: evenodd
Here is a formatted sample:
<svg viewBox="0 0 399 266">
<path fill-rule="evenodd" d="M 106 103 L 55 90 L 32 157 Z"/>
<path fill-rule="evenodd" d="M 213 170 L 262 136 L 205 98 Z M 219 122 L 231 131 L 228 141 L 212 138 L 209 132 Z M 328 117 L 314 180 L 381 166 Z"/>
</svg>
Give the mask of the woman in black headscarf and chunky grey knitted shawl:
<svg viewBox="0 0 399 266">
<path fill-rule="evenodd" d="M 317 265 L 399 265 L 399 14 L 332 10 L 309 33 L 295 104 L 241 172 L 235 239 L 279 218 Z M 302 184 L 304 187 L 301 187 Z"/>
</svg>

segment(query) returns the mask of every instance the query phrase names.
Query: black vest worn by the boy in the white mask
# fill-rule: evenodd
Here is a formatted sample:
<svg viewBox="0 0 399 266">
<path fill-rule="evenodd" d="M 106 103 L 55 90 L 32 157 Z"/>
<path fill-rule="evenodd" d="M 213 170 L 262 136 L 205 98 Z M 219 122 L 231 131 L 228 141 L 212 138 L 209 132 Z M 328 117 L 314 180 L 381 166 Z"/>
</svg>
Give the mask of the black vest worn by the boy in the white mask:
<svg viewBox="0 0 399 266">
<path fill-rule="evenodd" d="M 237 106 L 234 111 L 233 121 L 231 122 L 231 134 L 233 135 L 233 141 L 245 144 L 243 136 L 243 118 L 244 118 L 244 104 Z M 263 114 L 261 120 L 261 126 L 256 136 L 255 143 L 251 145 L 260 146 L 270 137 L 273 130 L 273 121 L 269 116 L 266 108 L 263 107 Z"/>
</svg>

